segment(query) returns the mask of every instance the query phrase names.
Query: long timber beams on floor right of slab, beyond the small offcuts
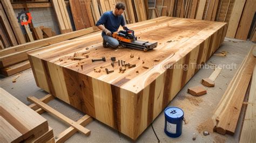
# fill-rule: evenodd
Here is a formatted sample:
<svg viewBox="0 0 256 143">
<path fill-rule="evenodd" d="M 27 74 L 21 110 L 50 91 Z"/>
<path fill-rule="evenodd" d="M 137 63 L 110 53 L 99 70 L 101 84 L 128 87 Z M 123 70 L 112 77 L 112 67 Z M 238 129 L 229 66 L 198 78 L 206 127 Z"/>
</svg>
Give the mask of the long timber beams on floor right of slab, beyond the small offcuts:
<svg viewBox="0 0 256 143">
<path fill-rule="evenodd" d="M 256 65 L 256 58 L 253 56 L 253 48 L 255 47 L 254 45 L 251 48 L 232 78 L 212 117 L 214 131 L 220 134 L 233 135 L 235 132 L 246 90 L 251 80 L 253 68 Z"/>
</svg>

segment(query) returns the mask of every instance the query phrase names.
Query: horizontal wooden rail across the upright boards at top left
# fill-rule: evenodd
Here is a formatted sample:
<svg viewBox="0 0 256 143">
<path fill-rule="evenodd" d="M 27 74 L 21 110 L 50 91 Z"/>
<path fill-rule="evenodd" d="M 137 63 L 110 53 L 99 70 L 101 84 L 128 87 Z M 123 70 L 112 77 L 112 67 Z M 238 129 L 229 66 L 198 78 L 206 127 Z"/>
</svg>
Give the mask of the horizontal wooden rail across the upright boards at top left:
<svg viewBox="0 0 256 143">
<path fill-rule="evenodd" d="M 25 6 L 23 3 L 12 3 L 13 9 L 25 9 Z M 26 2 L 27 8 L 51 8 L 51 3 L 28 3 Z"/>
</svg>

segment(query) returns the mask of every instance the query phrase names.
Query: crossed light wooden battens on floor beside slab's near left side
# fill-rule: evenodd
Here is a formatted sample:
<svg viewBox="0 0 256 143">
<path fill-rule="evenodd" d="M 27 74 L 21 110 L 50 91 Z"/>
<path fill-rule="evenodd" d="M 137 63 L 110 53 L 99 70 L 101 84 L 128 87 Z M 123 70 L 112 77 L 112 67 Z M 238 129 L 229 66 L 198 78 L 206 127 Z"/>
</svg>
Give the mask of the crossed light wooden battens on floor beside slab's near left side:
<svg viewBox="0 0 256 143">
<path fill-rule="evenodd" d="M 55 142 L 65 142 L 70 137 L 72 137 L 72 135 L 75 134 L 77 131 L 80 131 L 85 135 L 89 135 L 90 131 L 84 128 L 83 126 L 86 126 L 87 124 L 91 123 L 93 118 L 91 118 L 88 115 L 85 115 L 82 118 L 80 118 L 78 121 L 73 121 L 69 119 L 68 117 L 62 115 L 62 113 L 59 113 L 58 111 L 52 109 L 50 106 L 46 104 L 54 98 L 55 97 L 50 94 L 44 96 L 41 99 L 37 99 L 36 97 L 28 97 L 28 101 L 33 103 L 29 105 L 29 107 L 35 110 L 37 113 L 42 114 L 45 111 L 47 111 L 51 113 L 53 116 L 57 117 L 58 119 L 63 120 L 65 123 L 71 125 L 65 131 L 56 135 L 52 140 L 54 140 Z"/>
</svg>

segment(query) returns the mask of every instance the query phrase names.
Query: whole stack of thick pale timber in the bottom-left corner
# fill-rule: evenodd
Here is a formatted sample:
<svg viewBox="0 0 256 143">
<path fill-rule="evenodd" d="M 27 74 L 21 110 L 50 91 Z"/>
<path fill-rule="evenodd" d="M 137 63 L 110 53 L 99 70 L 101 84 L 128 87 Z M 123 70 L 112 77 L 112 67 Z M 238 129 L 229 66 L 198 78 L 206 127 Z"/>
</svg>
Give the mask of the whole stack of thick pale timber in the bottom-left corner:
<svg viewBox="0 0 256 143">
<path fill-rule="evenodd" d="M 46 142 L 53 138 L 48 121 L 0 88 L 1 142 Z"/>
</svg>

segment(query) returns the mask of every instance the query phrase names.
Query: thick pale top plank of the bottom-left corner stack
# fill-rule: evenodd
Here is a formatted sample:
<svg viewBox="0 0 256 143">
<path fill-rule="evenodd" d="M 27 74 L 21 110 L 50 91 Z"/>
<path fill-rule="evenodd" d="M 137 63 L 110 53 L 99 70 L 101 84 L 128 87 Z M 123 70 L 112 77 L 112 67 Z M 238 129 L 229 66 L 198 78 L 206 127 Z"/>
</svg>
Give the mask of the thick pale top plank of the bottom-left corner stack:
<svg viewBox="0 0 256 143">
<path fill-rule="evenodd" d="M 47 120 L 24 103 L 0 88 L 0 115 L 9 122 L 25 140 L 31 135 L 38 138 L 49 130 Z"/>
</svg>

